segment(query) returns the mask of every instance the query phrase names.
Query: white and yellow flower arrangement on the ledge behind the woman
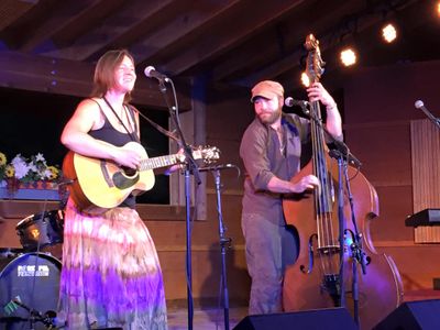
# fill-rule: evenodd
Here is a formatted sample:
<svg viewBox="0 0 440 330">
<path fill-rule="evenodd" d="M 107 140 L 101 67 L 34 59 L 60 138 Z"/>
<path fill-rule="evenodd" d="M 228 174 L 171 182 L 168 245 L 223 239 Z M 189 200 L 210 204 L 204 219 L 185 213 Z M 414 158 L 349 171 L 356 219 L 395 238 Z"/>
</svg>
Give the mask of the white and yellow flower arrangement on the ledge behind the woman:
<svg viewBox="0 0 440 330">
<path fill-rule="evenodd" d="M 1 186 L 32 185 L 37 182 L 57 183 L 62 172 L 57 166 L 48 166 L 43 154 L 38 153 L 25 158 L 18 154 L 10 163 L 0 152 L 0 184 Z"/>
</svg>

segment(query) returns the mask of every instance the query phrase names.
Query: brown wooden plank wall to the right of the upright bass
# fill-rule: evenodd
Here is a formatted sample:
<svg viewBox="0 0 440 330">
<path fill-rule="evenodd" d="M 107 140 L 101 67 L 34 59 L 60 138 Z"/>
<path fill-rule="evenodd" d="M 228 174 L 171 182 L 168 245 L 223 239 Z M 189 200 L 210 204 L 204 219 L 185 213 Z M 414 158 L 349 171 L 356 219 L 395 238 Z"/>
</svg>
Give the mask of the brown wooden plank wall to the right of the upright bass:
<svg viewBox="0 0 440 330">
<path fill-rule="evenodd" d="M 405 227 L 406 217 L 416 211 L 410 122 L 425 119 L 414 103 L 422 99 L 440 105 L 439 70 L 439 62 L 369 68 L 353 74 L 344 88 L 345 142 L 363 162 L 363 174 L 380 198 L 381 217 L 372 223 L 374 244 L 394 258 L 407 293 L 432 288 L 432 278 L 440 276 L 440 244 L 415 244 L 413 228 Z M 439 111 L 440 106 L 433 114 Z M 427 161 L 424 174 L 432 172 L 432 162 L 438 164 Z"/>
</svg>

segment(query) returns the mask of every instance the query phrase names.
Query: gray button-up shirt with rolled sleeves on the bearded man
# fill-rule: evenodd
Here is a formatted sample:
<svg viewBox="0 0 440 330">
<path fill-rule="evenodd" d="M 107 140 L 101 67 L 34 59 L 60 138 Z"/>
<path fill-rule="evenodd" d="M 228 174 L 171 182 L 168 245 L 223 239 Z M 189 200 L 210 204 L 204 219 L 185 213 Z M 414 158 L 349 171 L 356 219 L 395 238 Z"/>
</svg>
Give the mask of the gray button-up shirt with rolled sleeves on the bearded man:
<svg viewBox="0 0 440 330">
<path fill-rule="evenodd" d="M 283 114 L 283 148 L 277 132 L 257 118 L 248 127 L 241 141 L 240 156 L 246 169 L 243 213 L 257 213 L 267 221 L 284 226 L 282 195 L 267 190 L 273 176 L 289 180 L 299 172 L 301 143 L 309 135 L 309 121 L 296 114 Z"/>
</svg>

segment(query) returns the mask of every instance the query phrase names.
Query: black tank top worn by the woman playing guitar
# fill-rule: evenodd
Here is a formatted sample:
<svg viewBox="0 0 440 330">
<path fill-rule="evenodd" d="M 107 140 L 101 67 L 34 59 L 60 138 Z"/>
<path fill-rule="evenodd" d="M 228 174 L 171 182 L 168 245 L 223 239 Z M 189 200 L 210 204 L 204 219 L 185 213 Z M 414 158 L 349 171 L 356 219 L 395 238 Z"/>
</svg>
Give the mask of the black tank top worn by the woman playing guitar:
<svg viewBox="0 0 440 330">
<path fill-rule="evenodd" d="M 98 130 L 92 130 L 89 132 L 89 134 L 97 140 L 105 141 L 105 142 L 113 144 L 116 146 L 123 146 L 127 143 L 133 141 L 132 138 L 130 136 L 130 134 L 122 133 L 122 132 L 118 131 L 117 129 L 114 129 L 112 127 L 112 124 L 110 123 L 110 121 L 108 120 L 106 113 L 102 111 L 101 106 L 97 101 L 95 101 L 95 102 L 98 105 L 99 109 L 101 110 L 101 113 L 103 114 L 105 123 L 103 123 L 102 128 L 100 128 Z M 130 112 L 132 111 L 130 108 L 129 108 L 129 110 L 130 110 Z M 134 118 L 134 117 L 132 117 L 132 118 Z M 136 205 L 136 199 L 133 195 L 130 194 L 129 197 L 127 197 L 127 199 L 119 207 L 129 207 L 129 208 L 134 209 L 135 205 Z"/>
</svg>

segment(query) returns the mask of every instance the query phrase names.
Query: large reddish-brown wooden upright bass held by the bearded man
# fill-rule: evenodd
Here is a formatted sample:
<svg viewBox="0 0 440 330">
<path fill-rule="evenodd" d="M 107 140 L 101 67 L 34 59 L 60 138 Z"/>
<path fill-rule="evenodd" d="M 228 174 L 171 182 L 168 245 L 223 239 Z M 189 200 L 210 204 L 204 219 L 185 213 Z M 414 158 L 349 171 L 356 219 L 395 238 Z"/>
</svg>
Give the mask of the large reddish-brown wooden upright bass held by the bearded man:
<svg viewBox="0 0 440 330">
<path fill-rule="evenodd" d="M 306 48 L 307 76 L 312 84 L 323 72 L 314 35 L 307 37 Z M 392 257 L 376 252 L 370 234 L 370 223 L 378 216 L 377 194 L 348 162 L 346 188 L 336 194 L 344 180 L 341 166 L 329 156 L 318 101 L 310 103 L 310 133 L 312 158 L 292 180 L 314 174 L 320 189 L 315 189 L 314 198 L 304 195 L 283 201 L 286 222 L 296 227 L 299 237 L 298 258 L 285 273 L 284 309 L 342 306 L 362 329 L 372 329 L 403 301 L 398 270 Z M 341 227 L 341 218 L 352 221 Z"/>
</svg>

